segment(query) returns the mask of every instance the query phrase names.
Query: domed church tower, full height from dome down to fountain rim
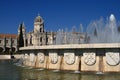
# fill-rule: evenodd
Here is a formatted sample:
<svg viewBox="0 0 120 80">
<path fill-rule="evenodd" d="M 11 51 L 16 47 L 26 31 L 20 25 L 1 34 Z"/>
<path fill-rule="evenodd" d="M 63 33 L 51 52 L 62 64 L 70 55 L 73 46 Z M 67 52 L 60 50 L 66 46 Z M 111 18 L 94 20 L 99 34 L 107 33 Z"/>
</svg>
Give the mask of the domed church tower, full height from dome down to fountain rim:
<svg viewBox="0 0 120 80">
<path fill-rule="evenodd" d="M 37 16 L 34 20 L 33 45 L 40 46 L 47 44 L 47 32 L 44 31 L 44 21 L 41 16 Z"/>
</svg>

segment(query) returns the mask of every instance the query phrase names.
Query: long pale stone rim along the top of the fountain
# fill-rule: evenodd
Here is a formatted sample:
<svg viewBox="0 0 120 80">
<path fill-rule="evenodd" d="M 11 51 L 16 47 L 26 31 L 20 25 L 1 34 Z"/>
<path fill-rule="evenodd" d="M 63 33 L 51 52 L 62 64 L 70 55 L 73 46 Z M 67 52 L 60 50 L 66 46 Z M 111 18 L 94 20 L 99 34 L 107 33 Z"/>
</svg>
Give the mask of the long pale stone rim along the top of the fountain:
<svg viewBox="0 0 120 80">
<path fill-rule="evenodd" d="M 98 43 L 98 44 L 64 44 L 21 47 L 19 50 L 36 49 L 89 49 L 89 48 L 120 48 L 120 43 Z"/>
</svg>

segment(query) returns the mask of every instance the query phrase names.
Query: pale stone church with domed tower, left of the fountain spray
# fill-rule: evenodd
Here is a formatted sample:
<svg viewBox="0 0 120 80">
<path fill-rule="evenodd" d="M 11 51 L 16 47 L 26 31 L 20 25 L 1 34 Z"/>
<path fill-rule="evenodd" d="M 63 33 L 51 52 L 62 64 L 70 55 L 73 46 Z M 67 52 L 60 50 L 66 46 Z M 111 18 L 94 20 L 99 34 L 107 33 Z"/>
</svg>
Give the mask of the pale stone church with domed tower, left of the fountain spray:
<svg viewBox="0 0 120 80">
<path fill-rule="evenodd" d="M 34 20 L 34 30 L 26 33 L 25 25 L 22 27 L 24 46 L 41 46 L 53 44 L 54 33 L 44 30 L 44 21 L 41 16 L 37 16 Z M 20 29 L 18 29 L 18 34 Z"/>
</svg>

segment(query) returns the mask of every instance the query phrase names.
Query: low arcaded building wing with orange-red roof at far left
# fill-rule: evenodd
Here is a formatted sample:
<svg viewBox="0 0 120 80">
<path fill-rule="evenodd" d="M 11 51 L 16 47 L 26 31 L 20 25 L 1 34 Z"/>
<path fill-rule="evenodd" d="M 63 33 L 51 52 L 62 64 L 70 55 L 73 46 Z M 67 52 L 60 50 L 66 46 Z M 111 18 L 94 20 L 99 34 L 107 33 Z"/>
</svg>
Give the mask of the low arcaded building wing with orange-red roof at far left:
<svg viewBox="0 0 120 80">
<path fill-rule="evenodd" d="M 5 51 L 17 51 L 17 38 L 18 35 L 16 34 L 0 34 L 0 53 Z"/>
</svg>

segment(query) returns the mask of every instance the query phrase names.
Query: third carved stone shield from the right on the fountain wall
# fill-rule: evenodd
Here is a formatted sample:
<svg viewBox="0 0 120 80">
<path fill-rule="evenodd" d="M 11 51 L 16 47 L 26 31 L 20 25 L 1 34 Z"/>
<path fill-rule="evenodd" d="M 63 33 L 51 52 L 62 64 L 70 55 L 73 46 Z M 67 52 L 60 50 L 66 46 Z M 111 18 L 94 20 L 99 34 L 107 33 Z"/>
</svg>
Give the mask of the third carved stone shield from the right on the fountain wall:
<svg viewBox="0 0 120 80">
<path fill-rule="evenodd" d="M 65 62 L 68 64 L 68 65 L 72 65 L 75 63 L 75 53 L 64 53 L 64 59 L 65 59 Z"/>
</svg>

